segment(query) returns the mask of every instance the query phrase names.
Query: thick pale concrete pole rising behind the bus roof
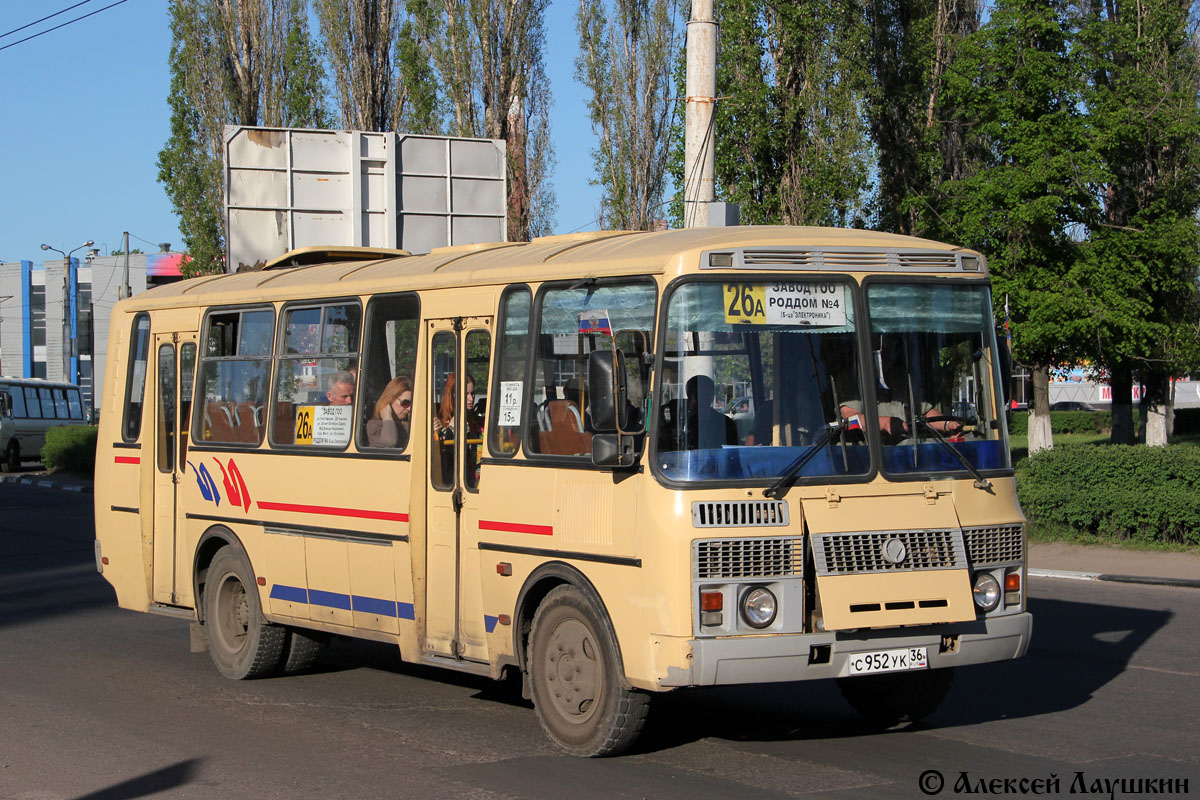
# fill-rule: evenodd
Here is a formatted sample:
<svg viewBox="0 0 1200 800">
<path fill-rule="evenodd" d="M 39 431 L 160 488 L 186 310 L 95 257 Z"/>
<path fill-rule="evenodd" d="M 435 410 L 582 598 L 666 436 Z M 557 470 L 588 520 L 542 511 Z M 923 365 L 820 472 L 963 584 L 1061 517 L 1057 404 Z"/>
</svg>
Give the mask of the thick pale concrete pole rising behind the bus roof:
<svg viewBox="0 0 1200 800">
<path fill-rule="evenodd" d="M 713 191 L 713 151 L 716 131 L 716 22 L 713 0 L 692 0 L 688 20 L 688 98 L 684 114 L 684 227 L 708 224 Z"/>
</svg>

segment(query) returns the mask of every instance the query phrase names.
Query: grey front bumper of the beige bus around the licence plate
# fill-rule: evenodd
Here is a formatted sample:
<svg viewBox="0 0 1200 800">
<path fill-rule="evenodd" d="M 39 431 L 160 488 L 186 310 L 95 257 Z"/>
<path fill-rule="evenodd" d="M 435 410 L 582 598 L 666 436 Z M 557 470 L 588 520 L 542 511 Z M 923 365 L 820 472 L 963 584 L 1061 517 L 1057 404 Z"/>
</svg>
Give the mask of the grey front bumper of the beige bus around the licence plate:
<svg viewBox="0 0 1200 800">
<path fill-rule="evenodd" d="M 852 655 L 916 646 L 926 649 L 931 669 L 964 667 L 1024 656 L 1032 631 L 1033 618 L 1024 612 L 949 625 L 692 639 L 691 667 L 671 667 L 660 685 L 668 688 L 841 678 L 850 672 Z"/>
</svg>

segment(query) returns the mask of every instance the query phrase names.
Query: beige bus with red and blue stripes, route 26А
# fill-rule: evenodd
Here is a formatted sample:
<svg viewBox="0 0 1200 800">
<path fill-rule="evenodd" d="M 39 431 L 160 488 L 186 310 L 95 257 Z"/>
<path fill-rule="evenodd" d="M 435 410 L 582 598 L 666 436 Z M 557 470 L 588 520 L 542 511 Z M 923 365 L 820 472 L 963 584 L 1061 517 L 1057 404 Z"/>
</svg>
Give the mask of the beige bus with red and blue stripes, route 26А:
<svg viewBox="0 0 1200 800">
<path fill-rule="evenodd" d="M 388 642 L 518 672 L 600 756 L 658 692 L 834 679 L 896 723 L 1028 646 L 978 253 L 788 227 L 305 249 L 112 331 L 97 569 L 229 678 Z"/>
</svg>

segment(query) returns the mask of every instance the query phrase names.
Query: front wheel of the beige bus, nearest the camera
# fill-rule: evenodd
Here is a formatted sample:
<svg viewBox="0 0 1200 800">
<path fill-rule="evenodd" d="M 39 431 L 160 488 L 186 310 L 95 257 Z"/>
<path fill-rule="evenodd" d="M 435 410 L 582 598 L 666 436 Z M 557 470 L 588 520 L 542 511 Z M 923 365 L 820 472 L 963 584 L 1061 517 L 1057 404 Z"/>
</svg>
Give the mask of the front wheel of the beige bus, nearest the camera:
<svg viewBox="0 0 1200 800">
<path fill-rule="evenodd" d="M 616 654 L 607 626 L 575 587 L 546 595 L 527 668 L 538 721 L 572 756 L 616 756 L 646 724 L 649 696 L 622 686 Z"/>
</svg>

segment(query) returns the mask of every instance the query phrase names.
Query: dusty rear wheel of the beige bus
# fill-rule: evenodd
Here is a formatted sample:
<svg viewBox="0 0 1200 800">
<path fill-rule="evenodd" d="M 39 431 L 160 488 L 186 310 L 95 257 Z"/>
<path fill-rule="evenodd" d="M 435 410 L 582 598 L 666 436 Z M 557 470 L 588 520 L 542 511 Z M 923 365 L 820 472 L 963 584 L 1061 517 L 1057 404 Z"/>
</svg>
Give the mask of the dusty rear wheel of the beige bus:
<svg viewBox="0 0 1200 800">
<path fill-rule="evenodd" d="M 233 680 L 269 675 L 283 656 L 287 628 L 263 618 L 253 570 L 232 545 L 217 551 L 209 565 L 204 632 L 212 663 Z"/>
</svg>

